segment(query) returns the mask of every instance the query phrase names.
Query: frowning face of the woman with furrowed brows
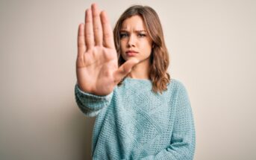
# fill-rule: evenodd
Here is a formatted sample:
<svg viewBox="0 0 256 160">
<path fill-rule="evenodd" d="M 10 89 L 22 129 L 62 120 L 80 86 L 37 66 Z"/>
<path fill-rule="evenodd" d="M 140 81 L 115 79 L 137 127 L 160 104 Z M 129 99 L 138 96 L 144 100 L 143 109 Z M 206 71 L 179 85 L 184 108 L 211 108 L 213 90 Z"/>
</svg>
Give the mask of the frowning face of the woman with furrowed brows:
<svg viewBox="0 0 256 160">
<path fill-rule="evenodd" d="M 129 60 L 149 61 L 152 51 L 152 39 L 146 31 L 146 26 L 140 16 L 131 16 L 122 22 L 120 30 L 122 58 Z"/>
</svg>

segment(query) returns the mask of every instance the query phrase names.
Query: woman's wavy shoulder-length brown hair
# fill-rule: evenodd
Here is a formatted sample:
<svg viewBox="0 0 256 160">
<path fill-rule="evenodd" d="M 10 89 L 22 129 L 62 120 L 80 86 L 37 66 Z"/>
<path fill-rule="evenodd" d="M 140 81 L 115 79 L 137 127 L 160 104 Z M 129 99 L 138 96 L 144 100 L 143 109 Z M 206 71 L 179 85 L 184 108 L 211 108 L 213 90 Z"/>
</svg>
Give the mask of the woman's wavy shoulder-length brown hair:
<svg viewBox="0 0 256 160">
<path fill-rule="evenodd" d="M 120 29 L 122 22 L 131 16 L 141 16 L 146 25 L 146 31 L 149 33 L 153 41 L 152 53 L 150 55 L 150 71 L 149 78 L 152 80 L 152 89 L 154 92 L 163 92 L 167 89 L 167 84 L 170 81 L 170 75 L 167 73 L 169 66 L 169 54 L 163 39 L 163 29 L 160 24 L 160 19 L 157 13 L 149 6 L 134 5 L 125 10 L 116 22 L 113 30 L 116 51 L 118 55 L 118 65 L 125 63 L 121 55 L 120 46 Z M 122 81 L 119 85 L 122 84 Z"/>
</svg>

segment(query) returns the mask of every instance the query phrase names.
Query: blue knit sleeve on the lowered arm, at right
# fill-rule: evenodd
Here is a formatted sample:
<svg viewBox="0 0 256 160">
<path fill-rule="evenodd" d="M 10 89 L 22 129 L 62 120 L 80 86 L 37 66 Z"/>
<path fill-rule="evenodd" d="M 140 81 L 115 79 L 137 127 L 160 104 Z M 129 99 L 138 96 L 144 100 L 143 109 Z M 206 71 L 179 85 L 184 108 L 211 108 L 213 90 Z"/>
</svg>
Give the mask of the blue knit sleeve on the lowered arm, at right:
<svg viewBox="0 0 256 160">
<path fill-rule="evenodd" d="M 187 90 L 178 82 L 176 99 L 175 122 L 172 138 L 168 147 L 154 156 L 146 156 L 149 159 L 192 160 L 196 146 L 196 133 L 193 121 L 193 112 Z"/>
</svg>

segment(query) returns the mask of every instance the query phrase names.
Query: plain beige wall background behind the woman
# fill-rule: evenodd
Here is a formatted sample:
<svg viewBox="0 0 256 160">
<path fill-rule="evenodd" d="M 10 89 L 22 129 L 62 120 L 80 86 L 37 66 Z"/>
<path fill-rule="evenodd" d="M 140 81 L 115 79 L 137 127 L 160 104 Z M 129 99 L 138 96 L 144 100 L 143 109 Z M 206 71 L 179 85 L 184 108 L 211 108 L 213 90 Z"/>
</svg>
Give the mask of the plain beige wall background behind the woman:
<svg viewBox="0 0 256 160">
<path fill-rule="evenodd" d="M 0 159 L 90 159 L 94 118 L 75 104 L 78 24 L 92 1 L 0 1 Z M 256 159 L 256 1 L 97 1 L 160 16 L 170 72 L 190 95 L 196 160 Z"/>
</svg>

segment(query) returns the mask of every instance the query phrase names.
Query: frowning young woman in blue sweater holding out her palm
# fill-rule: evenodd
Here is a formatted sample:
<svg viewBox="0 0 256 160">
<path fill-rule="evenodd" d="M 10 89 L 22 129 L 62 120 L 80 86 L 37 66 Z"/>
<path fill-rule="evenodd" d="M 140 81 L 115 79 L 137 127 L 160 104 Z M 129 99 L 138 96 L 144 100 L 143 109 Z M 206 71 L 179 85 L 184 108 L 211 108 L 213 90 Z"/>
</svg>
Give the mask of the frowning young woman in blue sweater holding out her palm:
<svg viewBox="0 0 256 160">
<path fill-rule="evenodd" d="M 129 7 L 111 31 L 96 4 L 78 29 L 75 98 L 97 116 L 93 159 L 193 159 L 195 129 L 184 85 L 167 73 L 157 13 Z"/>
</svg>

